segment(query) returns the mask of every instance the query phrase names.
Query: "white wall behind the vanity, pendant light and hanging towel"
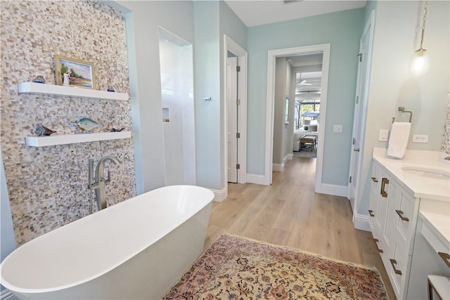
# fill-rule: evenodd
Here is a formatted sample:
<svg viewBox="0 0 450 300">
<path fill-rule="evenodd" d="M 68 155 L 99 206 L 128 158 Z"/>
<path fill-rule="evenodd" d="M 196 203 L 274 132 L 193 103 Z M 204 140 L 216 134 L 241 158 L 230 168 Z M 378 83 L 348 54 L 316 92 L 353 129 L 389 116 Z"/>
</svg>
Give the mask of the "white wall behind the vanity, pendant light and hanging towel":
<svg viewBox="0 0 450 300">
<path fill-rule="evenodd" d="M 412 134 L 428 134 L 429 143 L 408 144 L 409 149 L 439 151 L 449 93 L 449 2 L 429 1 L 424 48 L 430 55 L 430 72 L 415 77 L 410 72 L 414 51 L 420 45 L 423 1 L 378 1 L 369 86 L 364 158 L 359 186 L 359 214 L 367 214 L 373 147 L 387 148 L 378 141 L 379 129 L 390 129 L 392 117 L 405 121 L 413 111 Z M 371 5 L 371 7 L 373 7 Z"/>
</svg>

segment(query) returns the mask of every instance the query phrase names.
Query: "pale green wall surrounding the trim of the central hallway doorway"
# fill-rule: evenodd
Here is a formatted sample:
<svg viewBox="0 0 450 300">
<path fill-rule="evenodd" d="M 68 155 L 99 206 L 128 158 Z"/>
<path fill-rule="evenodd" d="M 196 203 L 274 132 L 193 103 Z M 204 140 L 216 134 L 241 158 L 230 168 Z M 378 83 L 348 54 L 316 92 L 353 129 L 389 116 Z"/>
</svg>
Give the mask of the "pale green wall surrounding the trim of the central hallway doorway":
<svg viewBox="0 0 450 300">
<path fill-rule="evenodd" d="M 249 174 L 264 175 L 267 51 L 330 43 L 322 181 L 347 186 L 356 89 L 356 54 L 363 29 L 364 8 L 248 29 Z M 342 124 L 343 133 L 333 133 L 333 124 Z"/>
</svg>

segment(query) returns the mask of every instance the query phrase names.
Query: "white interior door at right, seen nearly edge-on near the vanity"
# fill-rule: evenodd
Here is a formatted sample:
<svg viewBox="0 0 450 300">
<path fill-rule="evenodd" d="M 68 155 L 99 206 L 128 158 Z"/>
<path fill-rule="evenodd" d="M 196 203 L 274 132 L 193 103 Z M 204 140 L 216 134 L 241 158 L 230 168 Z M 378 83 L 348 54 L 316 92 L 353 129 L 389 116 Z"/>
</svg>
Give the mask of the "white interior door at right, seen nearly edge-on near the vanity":
<svg viewBox="0 0 450 300">
<path fill-rule="evenodd" d="M 369 21 L 364 29 L 364 33 L 359 43 L 358 54 L 358 77 L 356 81 L 356 98 L 354 104 L 354 118 L 353 118 L 353 138 L 352 138 L 352 154 L 350 157 L 349 169 L 349 200 L 354 211 L 354 205 L 358 197 L 359 171 L 361 170 L 361 153 L 364 145 L 364 129 L 366 124 L 366 107 L 368 98 L 368 67 L 371 56 L 371 40 L 372 40 L 372 24 Z"/>
</svg>

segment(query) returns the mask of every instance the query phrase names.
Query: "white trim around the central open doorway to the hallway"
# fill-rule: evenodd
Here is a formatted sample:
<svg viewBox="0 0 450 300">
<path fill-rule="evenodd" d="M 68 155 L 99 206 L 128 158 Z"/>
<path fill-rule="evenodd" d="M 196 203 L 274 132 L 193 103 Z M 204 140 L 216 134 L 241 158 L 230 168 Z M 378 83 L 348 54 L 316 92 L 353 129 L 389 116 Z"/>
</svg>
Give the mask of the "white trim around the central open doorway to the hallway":
<svg viewBox="0 0 450 300">
<path fill-rule="evenodd" d="M 272 156 L 274 151 L 274 84 L 275 84 L 275 59 L 295 54 L 323 53 L 322 59 L 322 86 L 321 86 L 321 117 L 319 118 L 319 142 L 317 146 L 316 183 L 314 190 L 321 193 L 323 144 L 325 141 L 326 99 L 328 94 L 328 70 L 330 66 L 330 44 L 302 46 L 270 50 L 267 53 L 267 107 L 266 107 L 266 159 L 264 170 L 264 183 L 272 183 Z"/>
</svg>

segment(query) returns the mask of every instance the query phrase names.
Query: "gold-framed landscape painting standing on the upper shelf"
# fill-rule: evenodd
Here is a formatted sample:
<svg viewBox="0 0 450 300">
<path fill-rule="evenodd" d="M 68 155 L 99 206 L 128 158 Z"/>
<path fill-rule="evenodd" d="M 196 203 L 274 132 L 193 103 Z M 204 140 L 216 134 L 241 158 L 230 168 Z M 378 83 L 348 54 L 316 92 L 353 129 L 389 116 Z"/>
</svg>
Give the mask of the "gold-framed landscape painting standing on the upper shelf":
<svg viewBox="0 0 450 300">
<path fill-rule="evenodd" d="M 94 63 L 55 55 L 56 84 L 95 89 Z"/>
</svg>

